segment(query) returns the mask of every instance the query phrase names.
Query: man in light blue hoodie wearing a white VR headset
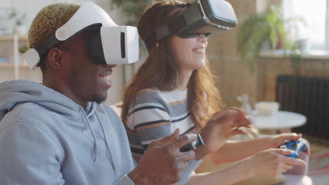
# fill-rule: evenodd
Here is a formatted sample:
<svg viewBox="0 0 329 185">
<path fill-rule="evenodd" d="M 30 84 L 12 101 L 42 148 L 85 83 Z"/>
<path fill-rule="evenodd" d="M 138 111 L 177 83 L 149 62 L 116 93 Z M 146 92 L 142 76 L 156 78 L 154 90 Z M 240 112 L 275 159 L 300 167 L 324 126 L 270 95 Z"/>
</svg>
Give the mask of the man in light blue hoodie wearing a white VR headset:
<svg viewBox="0 0 329 185">
<path fill-rule="evenodd" d="M 116 28 L 107 16 L 95 4 L 58 3 L 34 18 L 27 59 L 43 80 L 0 84 L 0 184 L 172 184 L 194 158 L 179 149 L 195 136 L 176 130 L 151 142 L 134 167 L 120 118 L 101 104 L 115 67 L 105 51 L 116 53 L 103 37 L 103 59 L 87 48 L 101 26 Z"/>
</svg>

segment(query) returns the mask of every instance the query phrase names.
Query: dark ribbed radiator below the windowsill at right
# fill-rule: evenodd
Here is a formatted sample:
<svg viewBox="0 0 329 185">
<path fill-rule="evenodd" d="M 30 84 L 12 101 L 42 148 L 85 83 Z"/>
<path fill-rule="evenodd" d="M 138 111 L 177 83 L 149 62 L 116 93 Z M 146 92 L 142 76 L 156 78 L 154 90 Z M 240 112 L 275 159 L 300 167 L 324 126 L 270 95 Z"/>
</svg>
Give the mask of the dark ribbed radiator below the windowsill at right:
<svg viewBox="0 0 329 185">
<path fill-rule="evenodd" d="M 307 123 L 294 132 L 329 139 L 329 78 L 279 75 L 276 101 L 280 110 L 307 116 Z"/>
</svg>

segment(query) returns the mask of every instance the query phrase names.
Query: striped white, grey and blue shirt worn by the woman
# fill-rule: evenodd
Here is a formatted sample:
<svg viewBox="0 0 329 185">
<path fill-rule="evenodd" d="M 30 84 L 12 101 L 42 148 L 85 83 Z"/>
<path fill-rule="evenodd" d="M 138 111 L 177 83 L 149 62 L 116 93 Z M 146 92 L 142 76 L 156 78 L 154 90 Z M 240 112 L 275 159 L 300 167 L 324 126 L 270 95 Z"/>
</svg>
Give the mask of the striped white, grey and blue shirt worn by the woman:
<svg viewBox="0 0 329 185">
<path fill-rule="evenodd" d="M 141 90 L 127 118 L 131 152 L 138 159 L 155 139 L 171 135 L 179 128 L 181 135 L 195 132 L 188 109 L 187 90 Z"/>
</svg>

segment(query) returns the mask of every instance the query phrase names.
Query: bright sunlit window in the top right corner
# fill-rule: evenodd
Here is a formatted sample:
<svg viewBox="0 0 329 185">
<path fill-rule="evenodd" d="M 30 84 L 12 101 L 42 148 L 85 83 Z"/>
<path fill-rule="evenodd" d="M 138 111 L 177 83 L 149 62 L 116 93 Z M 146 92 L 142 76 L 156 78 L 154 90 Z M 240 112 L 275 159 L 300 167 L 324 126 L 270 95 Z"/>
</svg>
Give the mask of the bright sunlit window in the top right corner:
<svg viewBox="0 0 329 185">
<path fill-rule="evenodd" d="M 329 0 L 283 0 L 285 18 L 298 16 L 307 23 L 298 25 L 298 38 L 308 39 L 314 50 L 329 49 Z M 328 18 L 327 18 L 328 14 Z"/>
</svg>

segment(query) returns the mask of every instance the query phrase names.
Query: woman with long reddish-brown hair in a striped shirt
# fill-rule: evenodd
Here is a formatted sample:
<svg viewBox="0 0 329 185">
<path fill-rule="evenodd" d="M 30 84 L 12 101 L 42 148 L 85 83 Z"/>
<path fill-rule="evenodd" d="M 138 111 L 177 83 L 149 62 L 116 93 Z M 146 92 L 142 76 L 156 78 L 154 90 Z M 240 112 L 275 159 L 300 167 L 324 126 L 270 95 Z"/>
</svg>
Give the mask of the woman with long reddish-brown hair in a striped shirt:
<svg viewBox="0 0 329 185">
<path fill-rule="evenodd" d="M 218 184 L 219 179 L 221 184 L 233 184 L 254 174 L 275 176 L 293 165 L 304 165 L 302 160 L 283 156 L 290 151 L 263 151 L 277 148 L 286 139 L 299 139 L 300 135 L 275 135 L 226 143 L 229 137 L 241 133 L 241 127 L 248 127 L 250 121 L 238 109 L 218 111 L 224 106 L 205 57 L 205 34 L 190 38 L 171 35 L 155 44 L 148 41 L 148 36 L 157 27 L 185 6 L 180 1 L 160 1 L 150 6 L 138 22 L 138 32 L 149 55 L 127 88 L 122 107 L 122 121 L 127 128 L 134 158 L 138 160 L 151 141 L 170 135 L 179 128 L 181 135 L 191 132 L 202 135 L 205 146 L 195 150 L 196 160 L 209 153 L 214 162 L 221 163 L 262 151 L 225 170 L 193 174 L 188 184 Z M 188 165 L 193 168 L 198 163 Z M 238 177 L 235 175 L 237 172 L 240 174 Z M 182 179 L 179 184 L 184 183 Z"/>
</svg>

